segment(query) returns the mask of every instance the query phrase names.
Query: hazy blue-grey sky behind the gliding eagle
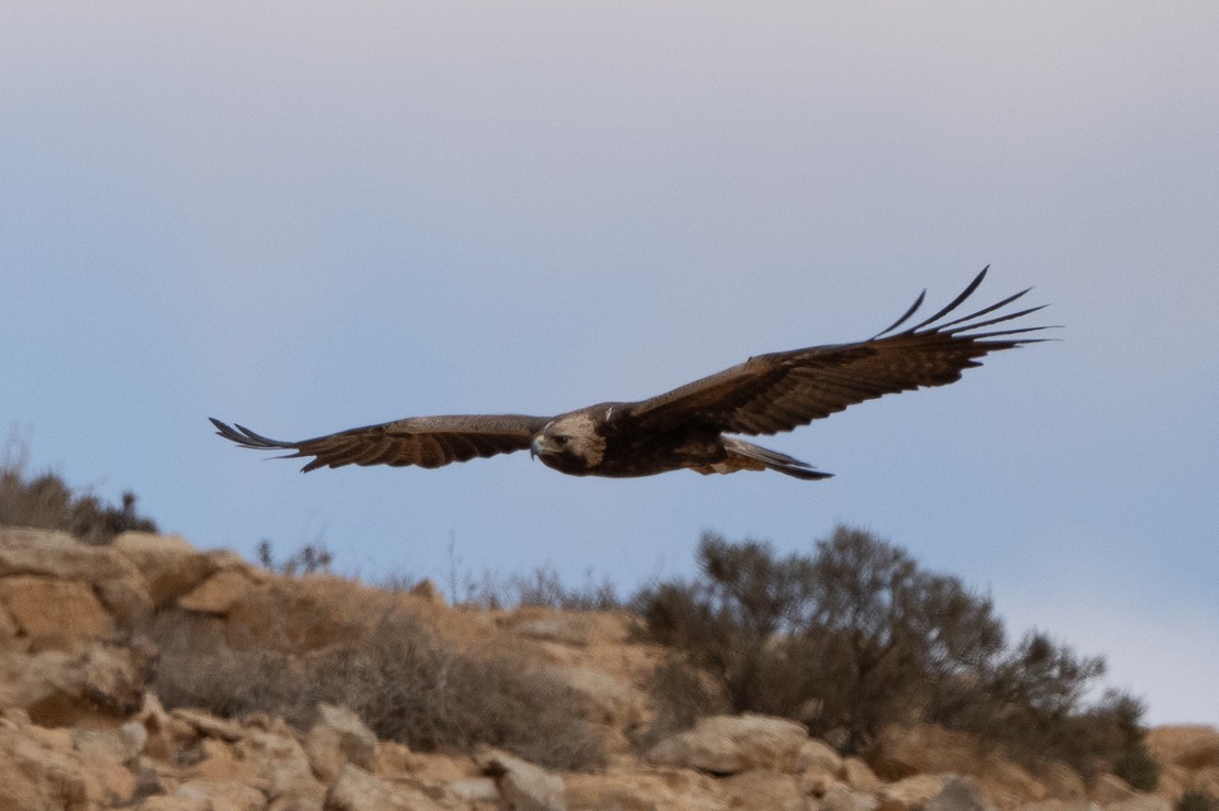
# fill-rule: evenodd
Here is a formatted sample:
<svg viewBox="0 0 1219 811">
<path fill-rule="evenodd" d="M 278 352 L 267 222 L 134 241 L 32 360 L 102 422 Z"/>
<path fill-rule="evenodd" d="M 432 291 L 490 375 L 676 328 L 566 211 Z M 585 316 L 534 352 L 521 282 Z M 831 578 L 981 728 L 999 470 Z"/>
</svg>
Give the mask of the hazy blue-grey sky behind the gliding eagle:
<svg viewBox="0 0 1219 811">
<path fill-rule="evenodd" d="M 1209 1 L 9 2 L 0 421 L 199 545 L 366 578 L 625 588 L 702 529 L 858 524 L 1219 723 L 1217 41 Z M 1062 340 L 766 443 L 828 482 L 301 476 L 206 422 L 639 399 L 986 263 Z"/>
</svg>

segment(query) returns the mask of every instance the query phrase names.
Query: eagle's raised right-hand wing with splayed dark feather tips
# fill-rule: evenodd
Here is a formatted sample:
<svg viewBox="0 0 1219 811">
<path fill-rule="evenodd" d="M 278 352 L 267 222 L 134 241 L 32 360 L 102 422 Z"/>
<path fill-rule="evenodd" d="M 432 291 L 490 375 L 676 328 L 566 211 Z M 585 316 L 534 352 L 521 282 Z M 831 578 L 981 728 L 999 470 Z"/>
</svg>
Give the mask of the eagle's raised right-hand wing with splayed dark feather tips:
<svg viewBox="0 0 1219 811">
<path fill-rule="evenodd" d="M 885 394 L 953 383 L 963 370 L 980 366 L 978 359 L 987 352 L 1040 340 L 1023 335 L 1047 328 L 986 329 L 1040 310 L 1002 312 L 1029 290 L 968 316 L 944 321 L 978 289 L 986 270 L 946 307 L 902 332 L 896 330 L 919 310 L 925 291 L 874 338 L 758 355 L 718 374 L 631 404 L 629 413 L 640 424 L 656 428 L 695 422 L 727 433 L 773 434 Z"/>
</svg>

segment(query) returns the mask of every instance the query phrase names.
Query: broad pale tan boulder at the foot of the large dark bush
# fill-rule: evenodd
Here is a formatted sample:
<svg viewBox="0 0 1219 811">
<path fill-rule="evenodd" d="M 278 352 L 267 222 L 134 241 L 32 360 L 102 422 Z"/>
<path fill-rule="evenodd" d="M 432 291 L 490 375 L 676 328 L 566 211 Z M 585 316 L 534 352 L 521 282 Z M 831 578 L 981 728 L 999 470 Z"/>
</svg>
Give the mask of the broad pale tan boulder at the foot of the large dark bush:
<svg viewBox="0 0 1219 811">
<path fill-rule="evenodd" d="M 694 729 L 658 743 L 647 752 L 647 760 L 713 774 L 735 774 L 748 768 L 795 773 L 807 739 L 805 728 L 786 718 L 753 713 L 712 716 Z"/>
</svg>

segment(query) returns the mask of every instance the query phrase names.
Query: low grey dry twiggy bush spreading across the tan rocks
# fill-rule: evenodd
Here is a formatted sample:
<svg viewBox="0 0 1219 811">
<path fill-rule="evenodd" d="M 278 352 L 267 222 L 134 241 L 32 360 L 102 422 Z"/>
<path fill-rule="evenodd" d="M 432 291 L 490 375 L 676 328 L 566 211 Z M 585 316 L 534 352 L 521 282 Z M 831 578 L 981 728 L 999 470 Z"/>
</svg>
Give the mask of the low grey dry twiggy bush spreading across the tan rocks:
<svg viewBox="0 0 1219 811">
<path fill-rule="evenodd" d="M 395 609 L 317 651 L 234 641 L 217 620 L 183 611 L 157 618 L 154 689 L 166 706 L 233 717 L 263 711 L 306 727 L 319 701 L 357 712 L 379 738 L 421 750 L 500 746 L 553 768 L 607 760 L 581 699 L 553 674 L 503 648 L 460 650 Z"/>
</svg>

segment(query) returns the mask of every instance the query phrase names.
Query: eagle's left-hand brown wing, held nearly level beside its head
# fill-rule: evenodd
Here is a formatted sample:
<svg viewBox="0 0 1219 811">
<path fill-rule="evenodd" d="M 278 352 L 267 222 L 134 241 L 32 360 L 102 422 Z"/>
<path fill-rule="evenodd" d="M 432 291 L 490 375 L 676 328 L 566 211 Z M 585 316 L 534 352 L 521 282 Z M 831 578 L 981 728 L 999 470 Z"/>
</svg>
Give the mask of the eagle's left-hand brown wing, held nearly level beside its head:
<svg viewBox="0 0 1219 811">
<path fill-rule="evenodd" d="M 516 413 L 411 417 L 295 443 L 268 439 L 219 420 L 212 420 L 212 424 L 216 433 L 241 448 L 293 451 L 280 459 L 312 456 L 313 461 L 301 468 L 307 473 L 318 467 L 344 465 L 440 467 L 475 456 L 511 454 L 529 448 L 534 433 L 549 420 Z"/>
</svg>

